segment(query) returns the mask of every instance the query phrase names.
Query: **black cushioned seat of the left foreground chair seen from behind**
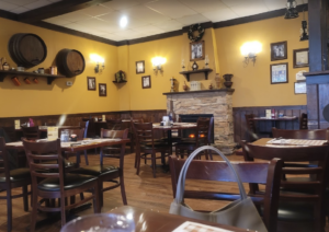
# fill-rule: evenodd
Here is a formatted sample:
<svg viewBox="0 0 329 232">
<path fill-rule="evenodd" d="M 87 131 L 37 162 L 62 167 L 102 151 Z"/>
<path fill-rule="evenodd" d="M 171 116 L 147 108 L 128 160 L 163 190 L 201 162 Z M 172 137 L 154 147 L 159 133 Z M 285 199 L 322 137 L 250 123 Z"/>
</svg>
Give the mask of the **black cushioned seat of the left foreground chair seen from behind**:
<svg viewBox="0 0 329 232">
<path fill-rule="evenodd" d="M 90 175 L 66 174 L 64 189 L 77 188 L 95 179 L 97 177 Z M 59 192 L 59 178 L 46 178 L 37 185 L 37 188 L 47 192 Z"/>
</svg>

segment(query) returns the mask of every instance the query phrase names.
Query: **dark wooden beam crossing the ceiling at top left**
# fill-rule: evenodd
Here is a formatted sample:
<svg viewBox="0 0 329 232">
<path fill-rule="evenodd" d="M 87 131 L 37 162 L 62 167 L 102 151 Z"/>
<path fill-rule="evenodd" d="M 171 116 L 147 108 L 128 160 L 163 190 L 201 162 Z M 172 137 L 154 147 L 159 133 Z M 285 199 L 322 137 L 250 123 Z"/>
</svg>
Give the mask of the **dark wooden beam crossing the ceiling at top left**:
<svg viewBox="0 0 329 232">
<path fill-rule="evenodd" d="M 18 15 L 18 21 L 34 23 L 53 16 L 90 8 L 111 0 L 64 0 Z"/>
</svg>

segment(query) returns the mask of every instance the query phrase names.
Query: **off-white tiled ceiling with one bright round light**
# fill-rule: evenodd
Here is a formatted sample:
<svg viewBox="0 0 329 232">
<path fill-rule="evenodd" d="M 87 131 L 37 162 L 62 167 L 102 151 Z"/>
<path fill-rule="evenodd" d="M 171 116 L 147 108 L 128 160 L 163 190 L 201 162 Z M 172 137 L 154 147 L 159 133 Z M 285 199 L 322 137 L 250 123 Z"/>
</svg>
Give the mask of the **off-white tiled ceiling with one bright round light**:
<svg viewBox="0 0 329 232">
<path fill-rule="evenodd" d="M 23 13 L 59 0 L 0 0 L 0 9 Z M 308 0 L 296 0 L 297 4 Z M 112 0 L 44 22 L 120 42 L 284 9 L 286 0 Z M 120 20 L 126 16 L 126 27 Z"/>
</svg>

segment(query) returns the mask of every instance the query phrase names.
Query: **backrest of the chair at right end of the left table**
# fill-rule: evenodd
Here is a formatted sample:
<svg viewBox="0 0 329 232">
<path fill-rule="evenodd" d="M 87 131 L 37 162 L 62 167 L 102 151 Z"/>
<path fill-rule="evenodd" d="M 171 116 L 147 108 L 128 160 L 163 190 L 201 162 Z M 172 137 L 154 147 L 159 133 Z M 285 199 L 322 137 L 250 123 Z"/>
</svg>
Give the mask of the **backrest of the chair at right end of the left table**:
<svg viewBox="0 0 329 232">
<path fill-rule="evenodd" d="M 109 130 L 109 129 L 103 129 L 101 128 L 101 138 L 110 138 L 110 139 L 127 139 L 128 138 L 128 131 L 129 129 L 126 128 L 124 130 Z M 125 144 L 121 144 L 121 153 L 120 156 L 117 155 L 112 155 L 112 158 L 120 158 L 120 167 L 123 169 L 124 165 L 124 154 L 125 154 Z M 103 164 L 103 148 L 101 148 L 101 165 Z M 109 156 L 109 155 L 106 155 Z M 111 155 L 110 155 L 111 156 Z"/>
</svg>

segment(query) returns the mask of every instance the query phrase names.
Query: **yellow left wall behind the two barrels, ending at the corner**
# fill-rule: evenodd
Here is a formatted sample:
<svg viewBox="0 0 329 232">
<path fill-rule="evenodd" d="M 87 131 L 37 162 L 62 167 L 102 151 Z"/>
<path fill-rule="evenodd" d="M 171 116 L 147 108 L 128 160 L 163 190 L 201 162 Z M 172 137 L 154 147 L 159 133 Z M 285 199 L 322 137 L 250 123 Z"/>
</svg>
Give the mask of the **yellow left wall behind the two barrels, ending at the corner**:
<svg viewBox="0 0 329 232">
<path fill-rule="evenodd" d="M 19 78 L 21 86 L 15 86 L 10 78 L 0 82 L 0 117 L 35 116 L 54 114 L 75 114 L 92 112 L 111 112 L 120 109 L 120 92 L 113 84 L 114 73 L 117 71 L 117 47 L 92 42 L 86 38 L 67 35 L 41 27 L 0 19 L 0 57 L 16 67 L 11 60 L 7 44 L 16 33 L 34 33 L 43 38 L 47 45 L 47 58 L 37 68 L 52 66 L 57 53 L 63 48 L 77 49 L 84 56 L 86 70 L 82 74 L 70 79 L 56 79 L 47 85 L 45 78 L 38 78 L 39 83 L 30 85 Z M 90 54 L 98 54 L 105 59 L 105 69 L 102 73 L 94 73 L 94 62 Z M 87 91 L 87 77 L 97 78 L 97 91 Z M 66 86 L 66 81 L 72 81 L 72 86 Z M 99 96 L 99 83 L 106 83 L 107 96 Z"/>
</svg>

